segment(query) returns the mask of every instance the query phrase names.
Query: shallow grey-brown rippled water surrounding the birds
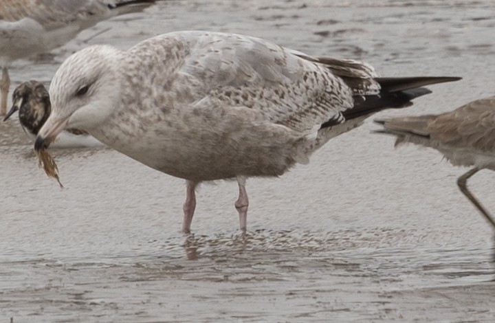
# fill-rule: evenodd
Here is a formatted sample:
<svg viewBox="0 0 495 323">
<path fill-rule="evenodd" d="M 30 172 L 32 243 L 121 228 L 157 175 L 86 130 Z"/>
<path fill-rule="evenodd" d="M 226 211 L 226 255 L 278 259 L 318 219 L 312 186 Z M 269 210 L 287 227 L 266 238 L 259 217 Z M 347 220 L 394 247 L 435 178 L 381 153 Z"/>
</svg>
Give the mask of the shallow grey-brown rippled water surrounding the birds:
<svg viewBox="0 0 495 323">
<path fill-rule="evenodd" d="M 48 81 L 94 43 L 228 31 L 361 58 L 384 76 L 462 76 L 380 116 L 439 113 L 494 93 L 494 17 L 489 0 L 172 1 L 100 23 L 10 76 Z M 17 121 L 1 123 L 0 320 L 492 322 L 493 232 L 456 187 L 465 169 L 394 150 L 376 128 L 367 120 L 281 179 L 250 179 L 245 235 L 236 183 L 203 184 L 187 238 L 183 181 L 110 149 L 74 149 L 56 152 L 61 190 Z M 494 180 L 470 181 L 489 210 Z"/>
</svg>

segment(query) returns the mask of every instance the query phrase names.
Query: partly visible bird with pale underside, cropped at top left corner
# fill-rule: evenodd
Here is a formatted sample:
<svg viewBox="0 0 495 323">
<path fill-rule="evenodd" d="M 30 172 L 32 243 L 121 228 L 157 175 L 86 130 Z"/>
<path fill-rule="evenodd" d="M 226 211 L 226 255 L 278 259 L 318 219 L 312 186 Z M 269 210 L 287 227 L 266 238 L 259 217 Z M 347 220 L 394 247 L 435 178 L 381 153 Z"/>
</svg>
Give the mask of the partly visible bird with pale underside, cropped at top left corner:
<svg viewBox="0 0 495 323">
<path fill-rule="evenodd" d="M 1 0 L 0 115 L 7 112 L 12 60 L 61 47 L 86 28 L 120 14 L 139 12 L 159 0 Z"/>
</svg>

